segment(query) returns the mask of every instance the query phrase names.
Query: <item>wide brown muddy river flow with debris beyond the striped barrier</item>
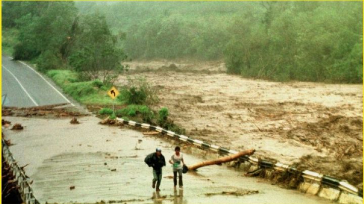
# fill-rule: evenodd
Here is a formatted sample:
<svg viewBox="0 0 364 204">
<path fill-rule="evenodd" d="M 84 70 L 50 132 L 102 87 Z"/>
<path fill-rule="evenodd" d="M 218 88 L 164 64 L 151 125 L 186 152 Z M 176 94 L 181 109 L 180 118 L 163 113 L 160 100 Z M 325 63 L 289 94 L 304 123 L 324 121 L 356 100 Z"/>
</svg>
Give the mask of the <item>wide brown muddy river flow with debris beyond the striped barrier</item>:
<svg viewBox="0 0 364 204">
<path fill-rule="evenodd" d="M 222 63 L 125 63 L 196 139 L 317 171 L 362 187 L 362 85 L 269 82 L 225 74 Z"/>
</svg>

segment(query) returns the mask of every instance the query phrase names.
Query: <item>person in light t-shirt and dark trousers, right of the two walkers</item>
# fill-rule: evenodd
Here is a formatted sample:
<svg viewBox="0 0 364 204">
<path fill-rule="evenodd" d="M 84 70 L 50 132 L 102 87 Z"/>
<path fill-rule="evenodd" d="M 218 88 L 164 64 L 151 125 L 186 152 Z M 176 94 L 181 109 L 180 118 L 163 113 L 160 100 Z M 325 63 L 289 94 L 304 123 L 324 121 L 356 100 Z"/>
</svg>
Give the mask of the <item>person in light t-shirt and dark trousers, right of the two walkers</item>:
<svg viewBox="0 0 364 204">
<path fill-rule="evenodd" d="M 176 146 L 174 148 L 174 154 L 172 155 L 169 163 L 172 164 L 173 167 L 173 183 L 174 190 L 176 190 L 177 185 L 177 173 L 178 173 L 178 185 L 179 189 L 183 189 L 183 181 L 182 181 L 182 169 L 183 165 L 185 165 L 185 161 L 183 155 L 180 152 L 180 147 Z"/>
</svg>

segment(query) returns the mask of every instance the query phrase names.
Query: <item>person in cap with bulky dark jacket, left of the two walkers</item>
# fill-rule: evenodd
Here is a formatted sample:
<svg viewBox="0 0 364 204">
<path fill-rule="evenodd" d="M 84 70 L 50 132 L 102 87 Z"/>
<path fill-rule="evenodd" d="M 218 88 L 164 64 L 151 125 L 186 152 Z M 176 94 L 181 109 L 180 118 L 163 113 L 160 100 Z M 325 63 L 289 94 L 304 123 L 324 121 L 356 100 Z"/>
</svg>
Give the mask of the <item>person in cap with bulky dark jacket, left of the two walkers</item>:
<svg viewBox="0 0 364 204">
<path fill-rule="evenodd" d="M 160 184 L 162 181 L 162 167 L 166 165 L 164 156 L 162 155 L 162 149 L 156 148 L 156 151 L 152 154 L 149 154 L 145 160 L 145 163 L 149 167 L 153 167 L 153 181 L 152 181 L 152 188 L 155 188 L 155 184 L 157 182 L 156 191 L 160 191 Z"/>
</svg>

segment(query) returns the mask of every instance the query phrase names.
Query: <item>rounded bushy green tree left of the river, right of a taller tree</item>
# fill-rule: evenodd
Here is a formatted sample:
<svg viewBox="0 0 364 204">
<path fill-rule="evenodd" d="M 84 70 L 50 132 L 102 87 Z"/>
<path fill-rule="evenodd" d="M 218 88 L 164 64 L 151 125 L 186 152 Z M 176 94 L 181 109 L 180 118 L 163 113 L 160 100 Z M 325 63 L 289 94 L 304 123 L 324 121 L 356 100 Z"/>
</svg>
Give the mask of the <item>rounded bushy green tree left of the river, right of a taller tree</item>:
<svg viewBox="0 0 364 204">
<path fill-rule="evenodd" d="M 122 71 L 120 64 L 126 56 L 116 47 L 105 17 L 96 13 L 86 15 L 73 24 L 74 42 L 70 44 L 69 64 L 88 79 L 112 82 Z"/>
</svg>

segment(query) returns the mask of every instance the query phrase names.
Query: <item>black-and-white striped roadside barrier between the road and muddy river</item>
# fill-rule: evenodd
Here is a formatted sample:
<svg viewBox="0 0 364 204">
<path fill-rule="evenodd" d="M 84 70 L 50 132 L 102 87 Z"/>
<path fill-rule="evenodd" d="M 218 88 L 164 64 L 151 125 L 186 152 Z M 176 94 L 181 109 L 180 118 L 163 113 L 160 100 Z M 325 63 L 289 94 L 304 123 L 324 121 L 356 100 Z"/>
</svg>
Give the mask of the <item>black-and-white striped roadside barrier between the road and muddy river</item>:
<svg viewBox="0 0 364 204">
<path fill-rule="evenodd" d="M 179 135 L 176 134 L 175 132 L 169 131 L 169 130 L 165 130 L 161 127 L 157 127 L 157 126 L 153 126 L 150 124 L 146 124 L 146 123 L 138 123 L 135 121 L 127 121 L 124 120 L 122 118 L 116 118 L 117 121 L 126 124 L 126 125 L 131 125 L 131 126 L 135 126 L 135 127 L 142 127 L 142 128 L 146 128 L 149 130 L 155 130 L 157 132 L 163 133 L 163 134 L 167 134 L 168 136 L 171 136 L 173 138 L 177 138 L 179 140 L 182 141 L 186 141 L 186 142 L 190 142 L 192 144 L 195 144 L 197 146 L 200 147 L 204 147 L 204 148 L 208 148 L 211 149 L 213 151 L 217 151 L 220 154 L 237 154 L 238 151 L 236 150 L 232 150 L 232 149 L 228 149 L 228 148 L 224 148 L 221 146 L 217 146 L 217 145 L 212 145 L 212 144 L 208 144 L 205 143 L 201 140 L 198 139 L 192 139 L 190 137 L 187 137 L 185 135 Z M 303 178 L 311 180 L 311 181 L 315 181 L 315 182 L 319 182 L 321 185 L 327 185 L 330 186 L 332 188 L 336 188 L 339 190 L 344 190 L 346 192 L 349 192 L 351 194 L 355 194 L 358 195 L 360 197 L 363 197 L 362 195 L 362 190 L 357 189 L 355 186 L 349 184 L 346 181 L 340 181 L 336 178 L 327 176 L 327 175 L 322 175 L 316 172 L 312 172 L 312 171 L 298 171 L 295 167 L 286 165 L 286 164 L 281 164 L 279 162 L 271 162 L 268 160 L 261 160 L 258 158 L 254 158 L 254 157 L 248 157 L 248 156 L 243 156 L 241 158 L 239 158 L 241 161 L 246 161 L 249 162 L 253 165 L 258 166 L 259 168 L 263 168 L 263 169 L 271 169 L 271 170 L 275 170 L 275 171 L 279 171 L 279 172 L 289 172 L 291 174 L 295 174 L 295 175 L 301 175 Z"/>
</svg>

